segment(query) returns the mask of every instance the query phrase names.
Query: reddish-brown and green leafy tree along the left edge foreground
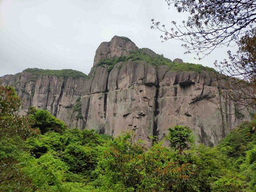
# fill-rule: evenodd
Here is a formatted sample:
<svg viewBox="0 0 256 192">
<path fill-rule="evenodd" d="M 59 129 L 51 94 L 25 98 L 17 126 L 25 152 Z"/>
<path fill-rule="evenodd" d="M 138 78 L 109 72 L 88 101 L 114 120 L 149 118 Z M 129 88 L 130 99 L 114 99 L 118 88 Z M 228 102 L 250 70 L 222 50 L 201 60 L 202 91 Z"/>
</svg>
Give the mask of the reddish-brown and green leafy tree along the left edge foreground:
<svg viewBox="0 0 256 192">
<path fill-rule="evenodd" d="M 12 87 L 0 86 L 0 191 L 26 191 L 31 180 L 18 167 L 23 140 L 36 133 L 28 117 L 17 114 L 20 99 Z"/>
</svg>

